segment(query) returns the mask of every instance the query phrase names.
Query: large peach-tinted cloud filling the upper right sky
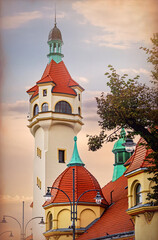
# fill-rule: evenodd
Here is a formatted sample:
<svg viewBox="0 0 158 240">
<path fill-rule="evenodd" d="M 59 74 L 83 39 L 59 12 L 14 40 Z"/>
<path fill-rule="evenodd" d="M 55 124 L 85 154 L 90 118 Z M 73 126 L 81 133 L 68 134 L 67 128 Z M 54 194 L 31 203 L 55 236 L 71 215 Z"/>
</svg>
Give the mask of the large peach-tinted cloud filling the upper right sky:
<svg viewBox="0 0 158 240">
<path fill-rule="evenodd" d="M 138 41 L 149 41 L 157 32 L 157 1 L 155 0 L 85 0 L 73 3 L 83 16 L 82 24 L 99 28 L 99 34 L 85 42 L 99 46 L 126 49 Z"/>
</svg>

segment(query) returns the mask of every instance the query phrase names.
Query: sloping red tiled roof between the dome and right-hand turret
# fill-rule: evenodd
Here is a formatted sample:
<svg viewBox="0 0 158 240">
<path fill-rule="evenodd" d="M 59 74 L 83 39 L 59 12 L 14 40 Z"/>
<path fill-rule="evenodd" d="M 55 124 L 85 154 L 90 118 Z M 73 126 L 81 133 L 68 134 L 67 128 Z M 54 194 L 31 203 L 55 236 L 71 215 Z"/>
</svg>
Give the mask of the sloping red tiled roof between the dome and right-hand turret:
<svg viewBox="0 0 158 240">
<path fill-rule="evenodd" d="M 116 234 L 128 231 L 133 231 L 133 224 L 130 216 L 126 213 L 128 209 L 128 191 L 127 178 L 121 176 L 115 182 L 109 182 L 103 187 L 102 192 L 104 197 L 110 203 L 110 192 L 113 191 L 113 204 L 105 211 L 103 216 L 90 227 L 78 240 L 89 240 L 106 236 L 108 233 Z"/>
</svg>

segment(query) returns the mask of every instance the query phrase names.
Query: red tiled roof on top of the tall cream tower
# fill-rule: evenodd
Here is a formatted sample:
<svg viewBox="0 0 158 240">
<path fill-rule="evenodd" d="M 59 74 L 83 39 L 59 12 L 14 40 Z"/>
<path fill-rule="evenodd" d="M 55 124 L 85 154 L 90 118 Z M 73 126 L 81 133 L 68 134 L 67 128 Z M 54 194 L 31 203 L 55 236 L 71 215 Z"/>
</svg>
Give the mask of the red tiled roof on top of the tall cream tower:
<svg viewBox="0 0 158 240">
<path fill-rule="evenodd" d="M 78 86 L 84 90 L 71 78 L 63 61 L 56 63 L 54 60 L 51 60 L 51 62 L 46 66 L 42 78 L 36 83 L 37 85 L 27 91 L 27 93 L 34 92 L 34 94 L 31 96 L 31 99 L 38 94 L 39 84 L 49 82 L 54 84 L 52 89 L 53 93 L 63 93 L 76 96 L 75 90 L 72 89 L 73 87 Z"/>
</svg>

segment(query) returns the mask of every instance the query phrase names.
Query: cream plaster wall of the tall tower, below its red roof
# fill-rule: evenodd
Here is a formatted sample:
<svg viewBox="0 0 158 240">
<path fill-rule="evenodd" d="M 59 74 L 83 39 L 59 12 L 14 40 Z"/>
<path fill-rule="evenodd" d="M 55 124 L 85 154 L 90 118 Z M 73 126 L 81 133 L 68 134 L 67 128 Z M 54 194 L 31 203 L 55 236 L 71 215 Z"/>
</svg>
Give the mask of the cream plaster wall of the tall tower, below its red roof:
<svg viewBox="0 0 158 240">
<path fill-rule="evenodd" d="M 39 96 L 30 103 L 29 125 L 31 133 L 35 138 L 35 157 L 33 173 L 33 217 L 44 216 L 43 203 L 47 187 L 52 186 L 59 174 L 65 170 L 70 161 L 74 141 L 73 138 L 81 130 L 82 118 L 78 115 L 78 107 L 81 108 L 78 95 L 67 96 L 63 94 L 52 94 L 53 85 L 42 85 L 39 87 Z M 43 96 L 43 90 L 47 89 L 47 96 Z M 72 107 L 72 114 L 54 113 L 55 104 L 58 101 L 67 101 Z M 48 111 L 41 112 L 44 102 L 48 103 Z M 39 114 L 33 116 L 34 105 L 39 105 Z M 41 158 L 37 156 L 37 147 L 41 150 Z M 58 150 L 66 152 L 65 163 L 58 162 Z M 41 189 L 37 186 L 37 177 L 41 181 Z M 61 215 L 62 216 L 62 215 Z M 33 239 L 42 240 L 44 229 L 37 222 L 33 222 Z"/>
</svg>

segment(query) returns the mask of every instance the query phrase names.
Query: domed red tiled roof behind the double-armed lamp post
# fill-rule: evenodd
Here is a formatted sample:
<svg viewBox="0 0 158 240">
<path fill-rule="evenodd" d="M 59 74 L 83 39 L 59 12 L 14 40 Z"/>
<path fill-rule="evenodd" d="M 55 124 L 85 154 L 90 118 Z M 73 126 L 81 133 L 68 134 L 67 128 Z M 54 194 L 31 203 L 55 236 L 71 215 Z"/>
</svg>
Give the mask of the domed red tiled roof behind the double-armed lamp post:
<svg viewBox="0 0 158 240">
<path fill-rule="evenodd" d="M 73 168 L 75 169 L 75 201 L 79 198 L 79 196 L 87 190 L 90 189 L 98 189 L 101 191 L 100 185 L 96 178 L 83 166 L 72 166 L 68 167 L 63 171 L 59 177 L 55 180 L 53 187 L 60 188 L 64 190 L 70 200 L 72 201 L 72 187 L 73 187 L 73 180 L 72 180 L 72 172 Z M 88 203 L 95 203 L 95 196 L 96 191 L 85 193 L 81 199 L 80 202 L 88 202 Z M 51 201 L 45 202 L 43 206 L 46 206 L 50 203 L 64 203 L 68 202 L 68 198 L 63 194 L 61 191 L 52 189 L 51 195 L 53 195 Z M 103 197 L 103 195 L 102 195 Z M 107 201 L 103 199 L 103 204 L 108 205 Z"/>
</svg>

